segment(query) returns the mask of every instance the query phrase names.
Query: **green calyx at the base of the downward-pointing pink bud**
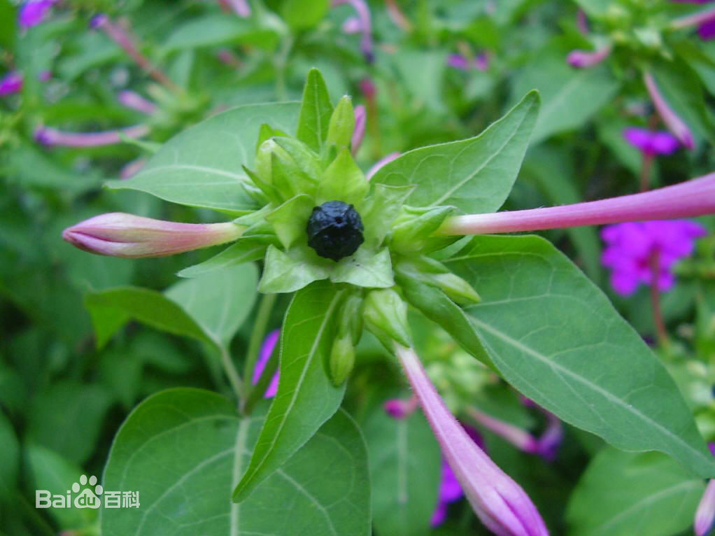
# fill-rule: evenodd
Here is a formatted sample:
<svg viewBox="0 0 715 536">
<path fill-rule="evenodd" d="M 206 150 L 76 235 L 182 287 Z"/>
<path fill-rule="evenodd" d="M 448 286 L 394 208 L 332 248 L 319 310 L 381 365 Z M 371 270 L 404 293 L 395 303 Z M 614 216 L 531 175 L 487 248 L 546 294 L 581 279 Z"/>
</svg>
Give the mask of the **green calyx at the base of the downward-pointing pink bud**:
<svg viewBox="0 0 715 536">
<path fill-rule="evenodd" d="M 393 341 L 406 347 L 412 346 L 407 322 L 407 304 L 393 289 L 370 291 L 365 297 L 363 319 L 365 327 L 378 337 L 390 352 L 393 351 Z"/>
</svg>

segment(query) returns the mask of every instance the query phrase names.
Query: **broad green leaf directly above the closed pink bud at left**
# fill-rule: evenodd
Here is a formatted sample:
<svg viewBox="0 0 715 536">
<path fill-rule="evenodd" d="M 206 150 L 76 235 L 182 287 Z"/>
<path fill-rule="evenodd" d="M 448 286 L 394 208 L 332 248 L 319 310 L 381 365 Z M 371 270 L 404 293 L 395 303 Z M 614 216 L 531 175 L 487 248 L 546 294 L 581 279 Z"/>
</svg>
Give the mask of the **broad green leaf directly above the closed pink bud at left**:
<svg viewBox="0 0 715 536">
<path fill-rule="evenodd" d="M 246 214 L 255 202 L 242 184 L 241 168 L 255 158 L 259 125 L 295 129 L 298 105 L 253 104 L 238 106 L 190 127 L 169 140 L 131 179 L 111 181 L 112 189 L 134 189 L 189 207 L 204 207 L 226 214 Z"/>
</svg>

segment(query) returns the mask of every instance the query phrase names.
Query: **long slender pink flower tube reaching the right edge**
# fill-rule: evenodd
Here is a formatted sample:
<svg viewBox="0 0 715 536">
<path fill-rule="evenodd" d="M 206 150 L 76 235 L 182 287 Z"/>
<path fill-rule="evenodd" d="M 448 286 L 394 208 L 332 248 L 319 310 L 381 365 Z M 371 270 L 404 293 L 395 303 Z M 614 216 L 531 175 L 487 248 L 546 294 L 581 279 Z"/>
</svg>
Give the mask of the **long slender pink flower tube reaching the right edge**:
<svg viewBox="0 0 715 536">
<path fill-rule="evenodd" d="M 715 213 L 715 172 L 641 194 L 561 207 L 469 214 L 445 220 L 437 234 L 538 231 L 580 225 L 678 219 Z"/>
</svg>

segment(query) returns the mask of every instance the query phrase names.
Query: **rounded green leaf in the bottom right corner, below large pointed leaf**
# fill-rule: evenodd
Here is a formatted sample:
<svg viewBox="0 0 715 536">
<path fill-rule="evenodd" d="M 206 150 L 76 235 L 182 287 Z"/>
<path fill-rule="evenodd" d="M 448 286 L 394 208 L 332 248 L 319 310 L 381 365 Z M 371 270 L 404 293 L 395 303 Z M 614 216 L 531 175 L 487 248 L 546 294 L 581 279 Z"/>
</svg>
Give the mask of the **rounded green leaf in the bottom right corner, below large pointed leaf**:
<svg viewBox="0 0 715 536">
<path fill-rule="evenodd" d="M 571 534 L 583 536 L 680 534 L 693 524 L 704 489 L 701 478 L 657 452 L 605 448 L 581 476 L 566 519 Z"/>
</svg>

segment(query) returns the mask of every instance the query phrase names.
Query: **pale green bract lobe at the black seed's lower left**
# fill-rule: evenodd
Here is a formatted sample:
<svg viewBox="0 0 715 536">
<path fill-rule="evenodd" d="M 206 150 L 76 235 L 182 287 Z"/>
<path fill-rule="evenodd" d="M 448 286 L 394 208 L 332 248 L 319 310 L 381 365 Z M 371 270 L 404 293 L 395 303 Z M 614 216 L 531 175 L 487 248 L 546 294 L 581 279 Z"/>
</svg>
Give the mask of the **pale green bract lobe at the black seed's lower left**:
<svg viewBox="0 0 715 536">
<path fill-rule="evenodd" d="M 269 246 L 258 291 L 264 294 L 295 292 L 314 281 L 327 279 L 330 269 L 310 262 L 309 255 L 307 246 L 294 247 L 287 254 Z M 313 254 L 313 257 L 317 256 Z"/>
</svg>

